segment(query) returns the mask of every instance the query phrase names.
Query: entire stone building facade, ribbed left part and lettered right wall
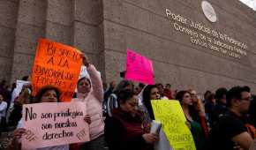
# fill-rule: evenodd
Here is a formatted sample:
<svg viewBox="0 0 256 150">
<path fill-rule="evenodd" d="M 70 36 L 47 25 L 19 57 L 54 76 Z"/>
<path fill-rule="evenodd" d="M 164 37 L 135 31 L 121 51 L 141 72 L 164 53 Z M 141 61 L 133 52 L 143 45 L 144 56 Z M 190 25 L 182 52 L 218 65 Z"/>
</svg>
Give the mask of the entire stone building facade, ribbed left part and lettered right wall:
<svg viewBox="0 0 256 150">
<path fill-rule="evenodd" d="M 43 37 L 84 51 L 107 83 L 120 79 L 133 49 L 153 60 L 155 82 L 256 92 L 256 13 L 238 0 L 208 0 L 217 18 L 210 22 L 201 2 L 0 0 L 0 79 L 30 74 Z"/>
</svg>

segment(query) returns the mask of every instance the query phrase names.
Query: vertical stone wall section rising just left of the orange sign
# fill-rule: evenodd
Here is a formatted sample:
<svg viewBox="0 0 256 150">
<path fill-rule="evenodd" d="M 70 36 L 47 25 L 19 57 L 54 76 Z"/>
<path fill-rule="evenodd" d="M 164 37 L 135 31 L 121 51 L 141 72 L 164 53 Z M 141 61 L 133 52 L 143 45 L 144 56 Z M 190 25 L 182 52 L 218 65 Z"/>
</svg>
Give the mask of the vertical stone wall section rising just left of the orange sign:
<svg viewBox="0 0 256 150">
<path fill-rule="evenodd" d="M 45 36 L 47 2 L 19 0 L 11 82 L 30 75 L 37 41 Z"/>
</svg>

